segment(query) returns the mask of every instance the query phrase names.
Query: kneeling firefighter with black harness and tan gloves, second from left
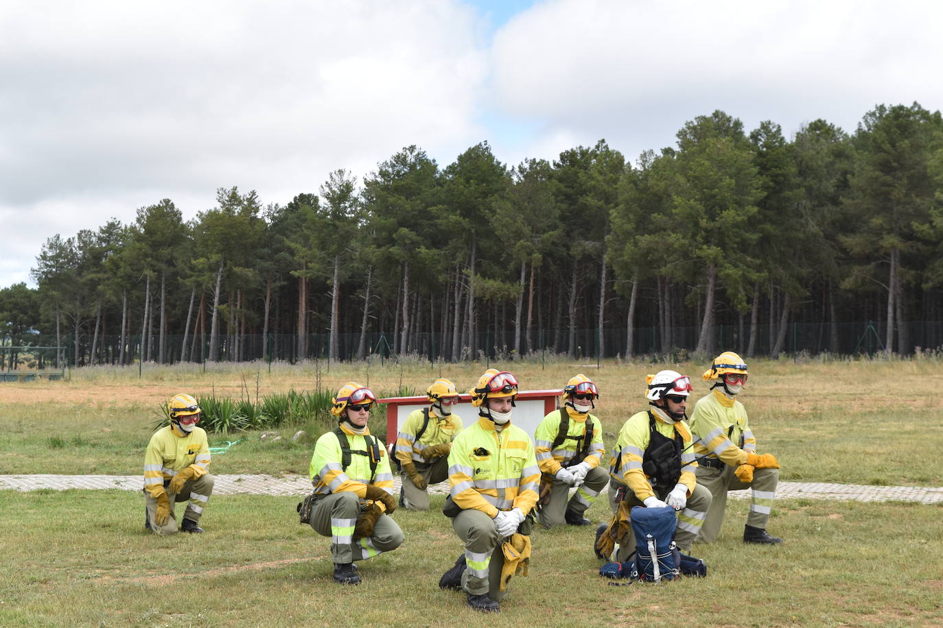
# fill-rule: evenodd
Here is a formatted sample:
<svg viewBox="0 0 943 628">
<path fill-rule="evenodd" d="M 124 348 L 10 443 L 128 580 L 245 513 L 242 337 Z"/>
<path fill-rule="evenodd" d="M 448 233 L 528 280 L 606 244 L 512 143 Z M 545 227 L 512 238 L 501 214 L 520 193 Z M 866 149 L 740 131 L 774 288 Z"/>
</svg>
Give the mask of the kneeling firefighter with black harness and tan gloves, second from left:
<svg viewBox="0 0 943 628">
<path fill-rule="evenodd" d="M 396 508 L 389 456 L 367 421 L 376 402 L 372 391 L 349 381 L 331 400 L 331 414 L 339 426 L 325 432 L 311 456 L 309 524 L 323 537 L 331 538 L 334 581 L 360 584 L 355 560 L 365 560 L 395 550 L 403 532 L 389 514 Z"/>
</svg>

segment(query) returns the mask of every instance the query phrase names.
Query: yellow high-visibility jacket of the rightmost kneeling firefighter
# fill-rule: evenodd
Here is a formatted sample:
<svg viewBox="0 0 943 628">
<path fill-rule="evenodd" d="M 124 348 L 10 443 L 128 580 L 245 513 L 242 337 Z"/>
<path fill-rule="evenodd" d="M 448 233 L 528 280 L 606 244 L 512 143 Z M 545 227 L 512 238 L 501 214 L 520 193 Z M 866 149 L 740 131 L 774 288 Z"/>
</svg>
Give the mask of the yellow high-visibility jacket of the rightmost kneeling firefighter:
<svg viewBox="0 0 943 628">
<path fill-rule="evenodd" d="M 743 404 L 715 388 L 698 399 L 691 412 L 694 454 L 709 454 L 732 467 L 746 464 L 747 454 L 756 453 L 756 439 Z"/>
</svg>

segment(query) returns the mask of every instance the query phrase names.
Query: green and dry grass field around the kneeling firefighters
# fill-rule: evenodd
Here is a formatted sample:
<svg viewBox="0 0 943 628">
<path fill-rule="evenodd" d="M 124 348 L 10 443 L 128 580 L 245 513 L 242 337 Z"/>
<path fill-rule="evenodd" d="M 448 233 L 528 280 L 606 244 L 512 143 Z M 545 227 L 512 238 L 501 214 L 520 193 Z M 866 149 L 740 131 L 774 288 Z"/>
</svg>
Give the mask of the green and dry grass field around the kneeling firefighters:
<svg viewBox="0 0 943 628">
<path fill-rule="evenodd" d="M 600 385 L 599 416 L 615 433 L 644 408 L 642 381 L 661 365 L 555 361 L 505 364 L 522 388 L 560 387 L 584 371 Z M 672 365 L 703 395 L 703 364 Z M 256 390 L 337 388 L 357 378 L 378 393 L 424 390 L 441 374 L 467 389 L 484 365 L 421 362 L 353 370 L 267 366 L 83 369 L 61 382 L 0 386 L 0 474 L 141 472 L 159 404 L 177 392 L 255 395 Z M 742 400 L 761 452 L 787 481 L 941 486 L 943 445 L 933 393 L 943 363 L 751 362 Z M 374 412 L 374 414 L 376 414 Z M 374 417 L 376 430 L 381 423 Z M 258 434 L 214 457 L 216 474 L 306 473 L 310 443 Z M 611 442 L 611 439 L 610 439 Z M 0 625 L 136 626 L 933 626 L 943 625 L 943 506 L 781 500 L 770 531 L 778 547 L 740 541 L 747 502 L 732 500 L 717 543 L 696 544 L 707 578 L 611 587 L 597 575 L 592 531 L 538 529 L 530 575 L 513 582 L 497 616 L 437 588 L 460 543 L 440 512 L 399 510 L 396 552 L 360 563 L 364 584 L 331 580 L 330 539 L 297 523 L 294 497 L 215 496 L 200 536 L 143 530 L 130 491 L 0 491 Z M 607 517 L 600 499 L 592 519 Z"/>
</svg>

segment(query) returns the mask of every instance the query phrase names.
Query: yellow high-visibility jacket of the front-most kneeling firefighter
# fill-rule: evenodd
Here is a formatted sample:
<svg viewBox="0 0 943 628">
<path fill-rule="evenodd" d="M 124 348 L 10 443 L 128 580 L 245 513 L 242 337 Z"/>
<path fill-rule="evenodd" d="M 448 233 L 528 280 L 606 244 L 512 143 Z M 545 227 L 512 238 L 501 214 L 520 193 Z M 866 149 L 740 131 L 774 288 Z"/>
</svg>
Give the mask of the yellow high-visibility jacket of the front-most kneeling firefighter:
<svg viewBox="0 0 943 628">
<path fill-rule="evenodd" d="M 450 494 L 460 508 L 481 510 L 492 519 L 499 509 L 517 507 L 526 515 L 537 504 L 539 484 L 534 443 L 521 427 L 508 423 L 498 432 L 481 417 L 452 442 Z"/>
</svg>

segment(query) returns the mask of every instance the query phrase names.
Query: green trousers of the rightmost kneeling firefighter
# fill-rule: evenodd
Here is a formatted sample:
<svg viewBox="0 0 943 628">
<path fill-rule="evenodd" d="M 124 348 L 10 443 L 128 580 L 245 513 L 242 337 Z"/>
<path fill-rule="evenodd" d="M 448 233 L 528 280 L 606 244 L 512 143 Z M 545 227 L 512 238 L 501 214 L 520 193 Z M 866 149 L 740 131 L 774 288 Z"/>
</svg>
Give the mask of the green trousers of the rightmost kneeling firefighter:
<svg viewBox="0 0 943 628">
<path fill-rule="evenodd" d="M 703 485 L 714 496 L 698 540 L 705 543 L 717 540 L 720 526 L 723 524 L 723 516 L 727 510 L 727 491 L 753 489 L 747 525 L 766 529 L 769 523 L 769 511 L 776 500 L 779 469 L 753 469 L 753 482 L 750 484 L 741 482 L 734 474 L 734 470 L 734 467 L 728 464 L 723 465 L 722 469 L 698 466 L 698 486 Z"/>
</svg>

